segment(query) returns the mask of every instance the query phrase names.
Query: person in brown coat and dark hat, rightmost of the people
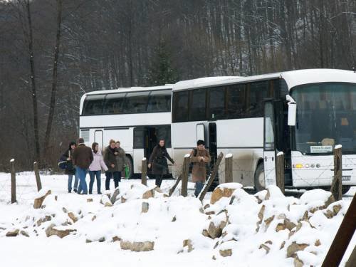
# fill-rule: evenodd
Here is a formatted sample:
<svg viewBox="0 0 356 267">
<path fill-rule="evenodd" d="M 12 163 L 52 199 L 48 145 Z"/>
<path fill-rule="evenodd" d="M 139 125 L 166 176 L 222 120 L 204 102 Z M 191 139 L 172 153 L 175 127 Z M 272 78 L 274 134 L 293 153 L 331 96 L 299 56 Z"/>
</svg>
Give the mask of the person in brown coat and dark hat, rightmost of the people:
<svg viewBox="0 0 356 267">
<path fill-rule="evenodd" d="M 197 148 L 194 148 L 190 152 L 190 159 L 193 162 L 192 181 L 195 182 L 194 195 L 198 197 L 206 179 L 206 164 L 209 164 L 211 160 L 208 150 L 205 149 L 205 142 L 203 140 L 198 140 Z"/>
</svg>

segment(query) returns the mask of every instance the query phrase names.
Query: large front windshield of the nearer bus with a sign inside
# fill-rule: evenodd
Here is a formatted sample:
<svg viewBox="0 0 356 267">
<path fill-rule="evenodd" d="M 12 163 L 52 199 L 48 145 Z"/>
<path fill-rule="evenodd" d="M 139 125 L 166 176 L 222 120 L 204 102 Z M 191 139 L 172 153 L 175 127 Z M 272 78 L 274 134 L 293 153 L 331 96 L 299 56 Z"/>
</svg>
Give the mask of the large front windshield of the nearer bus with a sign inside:
<svg viewBox="0 0 356 267">
<path fill-rule="evenodd" d="M 292 88 L 297 103 L 294 149 L 303 154 L 356 154 L 356 84 L 318 83 Z"/>
</svg>

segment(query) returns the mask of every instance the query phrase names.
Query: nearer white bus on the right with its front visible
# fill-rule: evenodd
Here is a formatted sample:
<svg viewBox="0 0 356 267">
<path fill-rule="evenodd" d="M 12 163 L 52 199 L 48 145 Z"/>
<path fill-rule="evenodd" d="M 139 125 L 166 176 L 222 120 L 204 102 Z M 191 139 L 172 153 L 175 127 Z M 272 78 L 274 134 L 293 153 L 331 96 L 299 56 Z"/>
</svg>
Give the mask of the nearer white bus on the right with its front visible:
<svg viewBox="0 0 356 267">
<path fill-rule="evenodd" d="M 199 139 L 213 159 L 231 153 L 234 182 L 258 190 L 276 184 L 278 152 L 286 158 L 286 187 L 330 187 L 340 144 L 342 184 L 355 185 L 356 73 L 310 69 L 179 82 L 172 95 L 178 166 Z"/>
</svg>

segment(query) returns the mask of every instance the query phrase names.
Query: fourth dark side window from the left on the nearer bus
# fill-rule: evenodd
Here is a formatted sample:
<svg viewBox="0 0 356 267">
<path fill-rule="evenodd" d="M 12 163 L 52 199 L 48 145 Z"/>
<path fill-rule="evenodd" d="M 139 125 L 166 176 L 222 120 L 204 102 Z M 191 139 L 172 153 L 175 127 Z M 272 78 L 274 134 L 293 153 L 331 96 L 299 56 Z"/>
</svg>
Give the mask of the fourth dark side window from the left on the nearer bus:
<svg viewBox="0 0 356 267">
<path fill-rule="evenodd" d="M 226 94 L 227 118 L 246 117 L 246 85 L 229 85 Z"/>
</svg>

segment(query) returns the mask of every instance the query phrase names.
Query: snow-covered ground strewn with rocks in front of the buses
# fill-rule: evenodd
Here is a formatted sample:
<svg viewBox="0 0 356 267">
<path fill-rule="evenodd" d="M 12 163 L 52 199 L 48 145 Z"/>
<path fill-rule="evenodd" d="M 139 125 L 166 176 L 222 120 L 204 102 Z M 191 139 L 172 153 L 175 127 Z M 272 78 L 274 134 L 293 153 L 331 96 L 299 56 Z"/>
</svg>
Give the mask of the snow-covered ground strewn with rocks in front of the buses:
<svg viewBox="0 0 356 267">
<path fill-rule="evenodd" d="M 1 266 L 293 266 L 295 255 L 305 264 L 320 266 L 355 194 L 352 189 L 349 197 L 325 206 L 330 194 L 323 190 L 297 199 L 284 197 L 275 187 L 253 196 L 239 184 L 227 184 L 229 197 L 211 204 L 209 193 L 201 204 L 192 197 L 193 184 L 191 197 L 176 192 L 168 198 L 164 193 L 174 180 L 164 180 L 162 193 L 153 190 L 153 197 L 142 199 L 142 194 L 153 192 L 155 182 L 148 180 L 144 187 L 140 180 L 122 179 L 115 204 L 105 206 L 105 194 L 68 194 L 66 175 L 42 174 L 41 182 L 38 193 L 33 173 L 17 174 L 18 204 L 9 204 L 10 175 L 0 173 Z M 52 194 L 43 207 L 33 209 L 33 199 L 47 189 Z M 224 186 L 221 190 L 229 191 Z M 112 196 L 113 191 L 105 193 Z M 63 239 L 47 237 L 51 225 L 75 231 Z M 16 229 L 29 237 L 6 237 Z M 132 252 L 121 248 L 122 241 L 155 244 L 152 251 Z M 303 251 L 288 258 L 294 244 Z M 342 265 L 355 244 L 354 236 Z"/>
</svg>

